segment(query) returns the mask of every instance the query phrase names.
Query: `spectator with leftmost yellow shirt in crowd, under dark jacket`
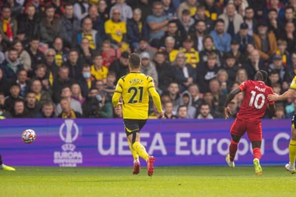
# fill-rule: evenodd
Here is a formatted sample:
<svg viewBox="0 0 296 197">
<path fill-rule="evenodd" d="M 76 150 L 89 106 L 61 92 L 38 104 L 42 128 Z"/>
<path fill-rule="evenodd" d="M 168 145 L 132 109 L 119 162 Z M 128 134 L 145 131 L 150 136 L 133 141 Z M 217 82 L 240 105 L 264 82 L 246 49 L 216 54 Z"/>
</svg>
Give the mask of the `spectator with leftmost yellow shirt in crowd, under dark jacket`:
<svg viewBox="0 0 296 197">
<path fill-rule="evenodd" d="M 64 48 L 63 40 L 61 37 L 56 37 L 53 41 L 53 49 L 55 50 L 55 64 L 57 66 L 62 66 L 63 63 L 67 62 L 68 50 Z M 46 52 L 45 52 L 46 54 Z"/>
</svg>

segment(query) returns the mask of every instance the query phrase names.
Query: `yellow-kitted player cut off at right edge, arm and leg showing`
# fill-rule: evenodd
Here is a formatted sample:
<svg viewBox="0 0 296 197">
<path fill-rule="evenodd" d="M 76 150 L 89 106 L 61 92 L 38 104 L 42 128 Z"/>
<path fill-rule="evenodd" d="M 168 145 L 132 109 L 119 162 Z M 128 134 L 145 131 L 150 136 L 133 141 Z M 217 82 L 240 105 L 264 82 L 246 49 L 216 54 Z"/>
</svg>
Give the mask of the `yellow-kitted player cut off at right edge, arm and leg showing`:
<svg viewBox="0 0 296 197">
<path fill-rule="evenodd" d="M 290 89 L 287 90 L 285 93 L 282 95 L 268 95 L 267 98 L 269 101 L 280 101 L 280 100 L 286 100 L 288 98 L 291 98 L 293 94 L 296 92 L 296 76 L 291 82 Z M 292 119 L 292 127 L 291 127 L 291 140 L 289 144 L 289 159 L 290 162 L 289 164 L 285 165 L 286 170 L 290 171 L 292 174 L 296 173 L 295 170 L 295 158 L 296 158 L 296 114 L 294 114 L 293 119 Z"/>
</svg>

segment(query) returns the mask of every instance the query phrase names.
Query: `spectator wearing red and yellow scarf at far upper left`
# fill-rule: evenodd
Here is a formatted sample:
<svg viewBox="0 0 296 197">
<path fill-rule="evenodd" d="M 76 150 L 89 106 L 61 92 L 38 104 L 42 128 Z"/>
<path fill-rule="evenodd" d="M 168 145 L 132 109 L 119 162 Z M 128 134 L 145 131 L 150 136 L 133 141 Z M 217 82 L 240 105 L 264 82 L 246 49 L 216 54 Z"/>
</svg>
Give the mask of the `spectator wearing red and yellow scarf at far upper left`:
<svg viewBox="0 0 296 197">
<path fill-rule="evenodd" d="M 10 43 L 16 36 L 17 22 L 11 17 L 11 8 L 8 5 L 2 6 L 1 15 L 0 34 L 5 42 Z"/>
</svg>

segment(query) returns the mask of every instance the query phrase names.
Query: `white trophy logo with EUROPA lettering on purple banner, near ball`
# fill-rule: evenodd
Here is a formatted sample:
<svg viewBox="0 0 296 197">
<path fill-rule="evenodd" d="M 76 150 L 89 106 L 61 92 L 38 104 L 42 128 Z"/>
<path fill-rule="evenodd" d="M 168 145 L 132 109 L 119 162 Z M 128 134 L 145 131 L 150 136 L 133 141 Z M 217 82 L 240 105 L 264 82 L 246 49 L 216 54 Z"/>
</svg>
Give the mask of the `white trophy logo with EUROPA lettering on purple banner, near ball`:
<svg viewBox="0 0 296 197">
<path fill-rule="evenodd" d="M 74 151 L 76 146 L 73 142 L 77 139 L 79 134 L 78 127 L 76 123 L 74 123 L 74 120 L 65 120 L 59 132 L 61 139 L 66 143 L 62 145 L 62 152 L 54 152 L 53 163 L 68 167 L 75 167 L 77 164 L 82 164 L 82 153 L 80 151 Z"/>
</svg>

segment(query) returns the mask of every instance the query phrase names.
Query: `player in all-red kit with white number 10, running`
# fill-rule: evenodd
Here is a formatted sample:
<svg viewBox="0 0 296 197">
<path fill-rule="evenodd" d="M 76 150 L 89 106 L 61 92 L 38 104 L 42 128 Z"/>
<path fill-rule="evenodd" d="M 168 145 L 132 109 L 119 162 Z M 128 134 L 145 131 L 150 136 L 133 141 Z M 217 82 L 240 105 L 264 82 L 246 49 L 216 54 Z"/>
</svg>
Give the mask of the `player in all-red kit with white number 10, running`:
<svg viewBox="0 0 296 197">
<path fill-rule="evenodd" d="M 224 104 L 225 119 L 228 113 L 231 113 L 228 103 L 240 92 L 244 92 L 242 101 L 236 119 L 231 126 L 231 143 L 229 145 L 229 154 L 226 156 L 226 162 L 230 167 L 234 167 L 234 157 L 237 151 L 237 145 L 240 138 L 247 131 L 248 138 L 252 142 L 254 154 L 254 167 L 257 175 L 262 174 L 262 168 L 259 160 L 261 158 L 262 128 L 261 118 L 264 116 L 267 105 L 269 110 L 275 111 L 274 101 L 268 102 L 267 95 L 273 94 L 270 87 L 265 85 L 267 72 L 259 70 L 253 80 L 247 80 L 240 84 L 238 88 L 231 91 Z"/>
</svg>

